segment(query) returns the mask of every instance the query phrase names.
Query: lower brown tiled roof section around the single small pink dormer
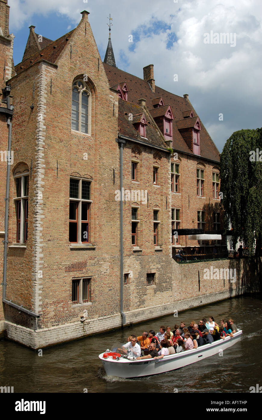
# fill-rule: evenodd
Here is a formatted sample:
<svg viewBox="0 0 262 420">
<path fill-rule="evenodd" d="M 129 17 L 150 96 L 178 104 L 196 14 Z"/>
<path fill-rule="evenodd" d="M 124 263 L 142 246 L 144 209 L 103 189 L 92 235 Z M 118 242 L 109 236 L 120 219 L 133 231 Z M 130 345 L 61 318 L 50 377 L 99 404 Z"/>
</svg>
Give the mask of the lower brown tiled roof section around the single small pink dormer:
<svg viewBox="0 0 262 420">
<path fill-rule="evenodd" d="M 129 114 L 133 115 L 133 121 L 128 119 Z M 141 137 L 139 131 L 134 126 L 134 123 L 141 120 L 141 116 L 144 114 L 146 118 L 146 139 Z M 167 148 L 167 145 L 162 138 L 162 134 L 159 133 L 157 127 L 154 125 L 154 122 L 151 121 L 151 118 L 144 110 L 131 102 L 127 102 L 121 98 L 118 100 L 118 130 L 119 134 L 123 136 L 130 137 L 132 139 L 140 140 L 151 145 Z"/>
</svg>

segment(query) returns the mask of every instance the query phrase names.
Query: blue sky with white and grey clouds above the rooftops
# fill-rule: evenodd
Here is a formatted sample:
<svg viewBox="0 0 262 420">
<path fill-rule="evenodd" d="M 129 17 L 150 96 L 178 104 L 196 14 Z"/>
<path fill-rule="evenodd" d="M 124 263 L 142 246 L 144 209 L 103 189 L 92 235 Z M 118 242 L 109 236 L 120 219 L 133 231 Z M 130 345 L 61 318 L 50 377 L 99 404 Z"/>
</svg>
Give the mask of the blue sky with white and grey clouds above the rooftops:
<svg viewBox="0 0 262 420">
<path fill-rule="evenodd" d="M 220 152 L 234 131 L 262 126 L 261 0 L 8 0 L 8 4 L 15 64 L 22 60 L 28 26 L 54 40 L 77 26 L 83 10 L 90 12 L 103 60 L 110 13 L 118 68 L 142 78 L 143 67 L 154 64 L 157 86 L 180 96 L 188 93 Z M 223 39 L 223 33 L 231 37 Z"/>
</svg>

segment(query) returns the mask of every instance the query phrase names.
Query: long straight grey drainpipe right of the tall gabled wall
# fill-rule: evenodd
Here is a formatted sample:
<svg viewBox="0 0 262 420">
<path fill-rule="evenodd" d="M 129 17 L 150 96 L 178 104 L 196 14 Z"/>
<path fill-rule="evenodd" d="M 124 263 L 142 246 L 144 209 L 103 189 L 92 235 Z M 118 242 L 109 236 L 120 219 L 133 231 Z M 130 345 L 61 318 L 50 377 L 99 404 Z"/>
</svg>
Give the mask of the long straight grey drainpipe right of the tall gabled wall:
<svg viewBox="0 0 262 420">
<path fill-rule="evenodd" d="M 124 259 L 123 259 L 123 145 L 126 144 L 125 140 L 116 139 L 120 146 L 120 314 L 121 314 L 121 328 L 126 323 L 126 314 L 123 312 L 123 284 L 124 284 Z"/>
</svg>

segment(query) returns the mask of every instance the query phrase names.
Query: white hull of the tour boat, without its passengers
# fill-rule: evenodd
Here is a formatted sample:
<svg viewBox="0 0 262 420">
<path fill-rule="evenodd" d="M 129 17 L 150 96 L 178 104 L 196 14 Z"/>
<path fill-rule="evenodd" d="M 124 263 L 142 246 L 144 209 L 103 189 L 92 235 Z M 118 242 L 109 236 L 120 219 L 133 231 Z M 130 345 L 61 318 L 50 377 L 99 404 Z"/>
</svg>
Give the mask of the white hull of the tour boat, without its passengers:
<svg viewBox="0 0 262 420">
<path fill-rule="evenodd" d="M 157 375 L 158 373 L 169 372 L 180 367 L 191 365 L 198 360 L 213 356 L 226 350 L 240 341 L 242 331 L 234 333 L 234 337 L 227 336 L 211 344 L 204 344 L 193 350 L 186 350 L 177 354 L 164 356 L 162 359 L 136 360 L 133 357 L 121 355 L 116 352 L 105 352 L 99 354 L 103 367 L 108 376 L 118 378 L 137 378 L 139 376 Z"/>
</svg>

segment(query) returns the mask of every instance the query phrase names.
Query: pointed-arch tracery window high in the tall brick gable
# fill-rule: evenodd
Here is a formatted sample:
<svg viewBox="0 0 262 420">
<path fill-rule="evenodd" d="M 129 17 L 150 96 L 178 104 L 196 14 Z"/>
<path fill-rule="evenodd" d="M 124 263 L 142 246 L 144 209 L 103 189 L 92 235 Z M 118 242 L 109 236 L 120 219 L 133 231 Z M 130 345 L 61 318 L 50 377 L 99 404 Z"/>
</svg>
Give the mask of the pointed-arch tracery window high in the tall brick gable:
<svg viewBox="0 0 262 420">
<path fill-rule="evenodd" d="M 91 135 L 91 92 L 85 81 L 74 81 L 72 88 L 72 130 Z"/>
</svg>

